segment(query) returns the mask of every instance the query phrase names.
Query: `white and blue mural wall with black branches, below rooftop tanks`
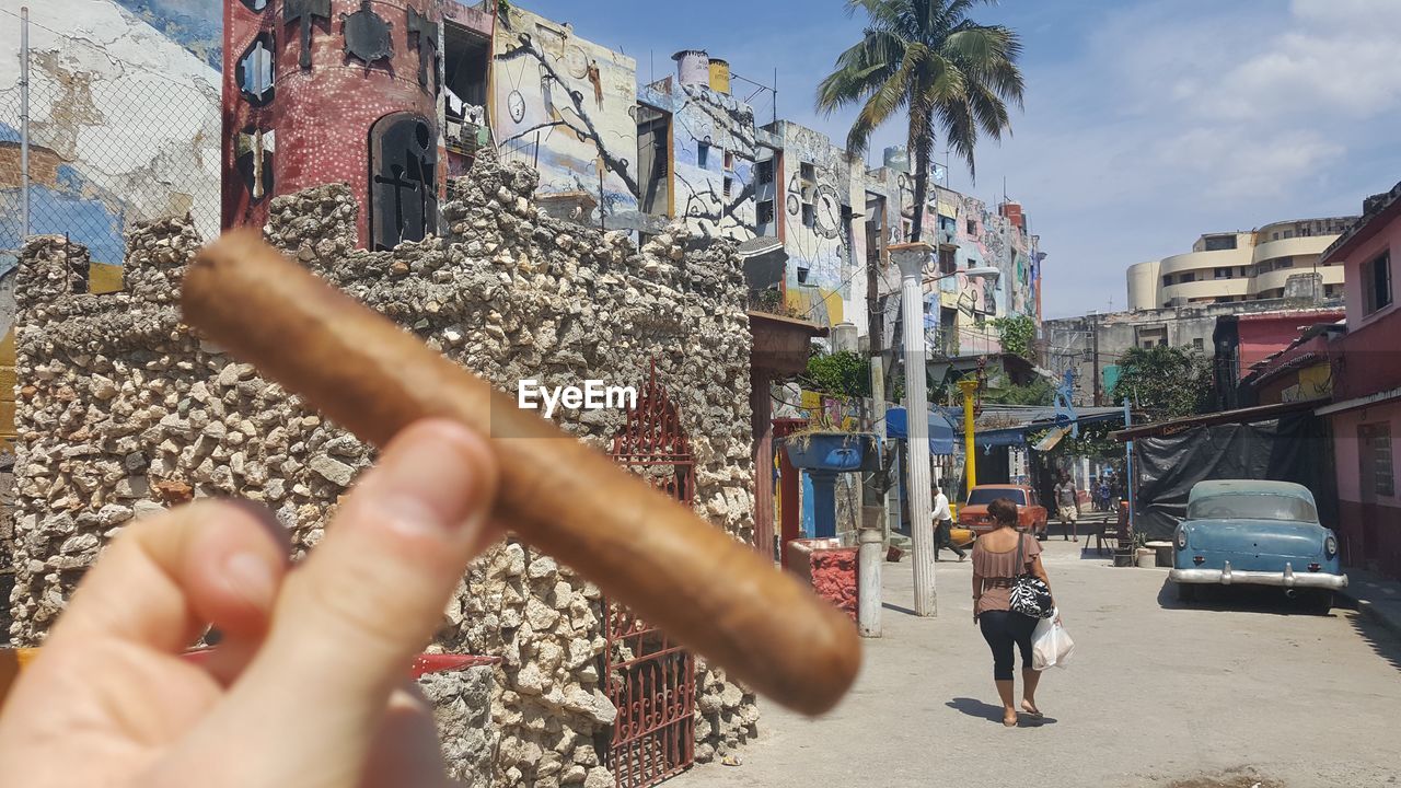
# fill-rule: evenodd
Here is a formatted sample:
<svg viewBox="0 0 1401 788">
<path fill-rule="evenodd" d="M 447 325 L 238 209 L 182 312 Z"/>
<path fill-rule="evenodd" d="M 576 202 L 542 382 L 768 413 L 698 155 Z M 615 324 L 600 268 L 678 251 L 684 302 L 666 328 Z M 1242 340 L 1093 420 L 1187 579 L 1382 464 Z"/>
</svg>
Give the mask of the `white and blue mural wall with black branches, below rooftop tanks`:
<svg viewBox="0 0 1401 788">
<path fill-rule="evenodd" d="M 754 108 L 675 79 L 642 88 L 639 100 L 671 115 L 675 216 L 696 236 L 755 237 Z"/>
</svg>

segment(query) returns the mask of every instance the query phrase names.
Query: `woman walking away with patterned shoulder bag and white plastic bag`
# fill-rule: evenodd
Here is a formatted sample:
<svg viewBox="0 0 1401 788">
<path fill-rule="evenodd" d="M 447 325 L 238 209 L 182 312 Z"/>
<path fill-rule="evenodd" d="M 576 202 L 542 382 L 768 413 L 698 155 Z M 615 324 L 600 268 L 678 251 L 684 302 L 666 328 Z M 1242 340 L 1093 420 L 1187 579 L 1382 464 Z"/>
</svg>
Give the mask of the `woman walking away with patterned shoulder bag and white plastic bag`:
<svg viewBox="0 0 1401 788">
<path fill-rule="evenodd" d="M 1037 620 L 1010 609 L 1012 582 L 1024 573 L 1041 578 L 1049 587 L 1041 566 L 1041 543 L 1017 530 L 1017 505 L 1006 498 L 988 505 L 996 530 L 984 534 L 972 545 L 972 620 L 982 628 L 982 637 L 992 649 L 992 677 L 1002 698 L 1002 724 L 1017 725 L 1014 705 L 1013 658 L 1021 652 L 1021 712 L 1041 719 L 1037 708 L 1037 683 L 1041 673 L 1031 669 L 1031 632 Z"/>
</svg>

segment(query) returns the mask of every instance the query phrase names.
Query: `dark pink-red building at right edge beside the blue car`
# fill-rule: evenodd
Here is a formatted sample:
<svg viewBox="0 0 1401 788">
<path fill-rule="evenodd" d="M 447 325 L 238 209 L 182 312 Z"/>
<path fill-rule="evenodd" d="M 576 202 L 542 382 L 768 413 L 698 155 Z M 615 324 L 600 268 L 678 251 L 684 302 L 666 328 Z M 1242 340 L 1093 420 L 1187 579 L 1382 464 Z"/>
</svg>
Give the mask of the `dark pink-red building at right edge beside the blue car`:
<svg viewBox="0 0 1401 788">
<path fill-rule="evenodd" d="M 1342 264 L 1348 331 L 1331 344 L 1332 422 L 1344 559 L 1401 576 L 1401 184 L 1324 252 Z"/>
</svg>

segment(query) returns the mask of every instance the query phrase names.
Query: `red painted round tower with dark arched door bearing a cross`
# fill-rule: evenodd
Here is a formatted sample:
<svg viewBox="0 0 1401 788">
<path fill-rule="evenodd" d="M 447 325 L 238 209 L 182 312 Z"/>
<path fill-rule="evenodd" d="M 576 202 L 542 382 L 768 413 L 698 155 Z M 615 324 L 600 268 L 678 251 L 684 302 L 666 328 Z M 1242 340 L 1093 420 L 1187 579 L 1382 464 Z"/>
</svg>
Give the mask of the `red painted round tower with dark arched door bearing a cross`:
<svg viewBox="0 0 1401 788">
<path fill-rule="evenodd" d="M 360 244 L 437 229 L 440 0 L 224 0 L 224 227 L 346 184 Z"/>
</svg>

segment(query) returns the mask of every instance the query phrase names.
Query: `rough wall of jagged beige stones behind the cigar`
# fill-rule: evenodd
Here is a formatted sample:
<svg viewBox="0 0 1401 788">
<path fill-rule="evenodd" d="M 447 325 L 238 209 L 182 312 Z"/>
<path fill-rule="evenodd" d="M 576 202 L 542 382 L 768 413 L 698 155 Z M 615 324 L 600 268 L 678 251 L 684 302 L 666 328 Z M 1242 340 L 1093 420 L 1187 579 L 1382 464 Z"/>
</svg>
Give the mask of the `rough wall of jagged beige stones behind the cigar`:
<svg viewBox="0 0 1401 788">
<path fill-rule="evenodd" d="M 752 540 L 745 287 L 726 243 L 642 251 L 566 224 L 527 199 L 535 174 L 483 161 L 455 182 L 448 234 L 392 252 L 354 251 L 356 206 L 326 186 L 275 201 L 268 236 L 304 265 L 412 328 L 503 390 L 657 377 L 688 432 L 696 510 Z M 71 294 L 84 252 L 28 244 L 20 272 L 21 383 L 11 632 L 42 639 L 101 547 L 136 515 L 189 498 L 266 502 L 298 550 L 373 453 L 251 366 L 179 324 L 177 293 L 200 238 L 184 220 L 129 238 L 127 290 Z M 621 411 L 558 416 L 605 449 Z M 523 544 L 497 545 L 464 578 L 434 648 L 502 656 L 493 704 L 503 785 L 611 785 L 615 709 L 602 694 L 598 589 Z M 755 733 L 754 697 L 698 674 L 698 759 Z"/>
</svg>

